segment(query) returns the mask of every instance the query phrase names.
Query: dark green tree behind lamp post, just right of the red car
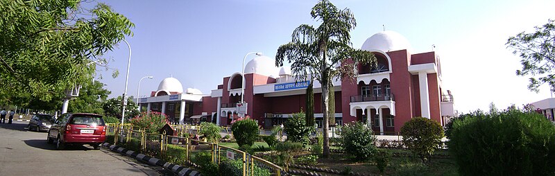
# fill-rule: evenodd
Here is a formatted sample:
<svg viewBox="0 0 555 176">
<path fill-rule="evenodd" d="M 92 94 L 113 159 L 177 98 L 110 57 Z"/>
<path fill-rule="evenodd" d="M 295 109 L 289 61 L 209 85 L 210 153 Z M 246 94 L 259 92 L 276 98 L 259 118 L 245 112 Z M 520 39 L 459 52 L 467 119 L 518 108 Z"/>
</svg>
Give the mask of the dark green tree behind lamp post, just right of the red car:
<svg viewBox="0 0 555 176">
<path fill-rule="evenodd" d="M 104 109 L 106 116 L 115 116 L 121 119 L 121 96 L 105 100 L 102 109 Z M 139 107 L 133 102 L 133 97 L 127 98 L 126 119 L 133 118 L 139 114 Z"/>
</svg>

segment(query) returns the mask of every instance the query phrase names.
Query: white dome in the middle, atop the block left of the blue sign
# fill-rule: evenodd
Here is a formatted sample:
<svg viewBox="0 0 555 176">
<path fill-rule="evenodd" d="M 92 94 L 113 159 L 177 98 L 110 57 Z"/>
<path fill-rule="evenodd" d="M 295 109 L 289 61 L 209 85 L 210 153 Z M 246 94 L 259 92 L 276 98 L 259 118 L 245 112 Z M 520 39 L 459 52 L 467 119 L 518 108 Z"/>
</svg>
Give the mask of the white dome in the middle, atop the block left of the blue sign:
<svg viewBox="0 0 555 176">
<path fill-rule="evenodd" d="M 275 61 L 266 55 L 250 60 L 245 66 L 245 73 L 257 73 L 263 76 L 275 76 Z"/>
</svg>

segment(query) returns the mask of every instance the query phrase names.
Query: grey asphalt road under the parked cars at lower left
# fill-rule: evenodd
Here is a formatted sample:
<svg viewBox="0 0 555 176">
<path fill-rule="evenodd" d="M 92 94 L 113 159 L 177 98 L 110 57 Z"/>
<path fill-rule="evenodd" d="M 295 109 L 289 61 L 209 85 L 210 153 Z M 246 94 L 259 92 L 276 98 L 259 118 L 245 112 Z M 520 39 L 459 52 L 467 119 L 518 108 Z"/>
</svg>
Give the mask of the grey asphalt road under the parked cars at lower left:
<svg viewBox="0 0 555 176">
<path fill-rule="evenodd" d="M 56 150 L 46 143 L 46 132 L 29 132 L 27 124 L 0 123 L 0 175 L 161 175 L 108 149 L 85 145 Z"/>
</svg>

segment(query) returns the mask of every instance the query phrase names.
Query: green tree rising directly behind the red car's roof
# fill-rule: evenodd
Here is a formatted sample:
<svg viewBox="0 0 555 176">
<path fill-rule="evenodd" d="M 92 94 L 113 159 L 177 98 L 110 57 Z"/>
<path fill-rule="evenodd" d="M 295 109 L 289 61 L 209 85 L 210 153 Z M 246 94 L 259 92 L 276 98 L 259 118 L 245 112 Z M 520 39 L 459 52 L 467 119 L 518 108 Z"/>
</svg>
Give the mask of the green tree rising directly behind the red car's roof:
<svg viewBox="0 0 555 176">
<path fill-rule="evenodd" d="M 70 100 L 67 111 L 104 114 L 102 104 L 111 92 L 104 89 L 103 86 L 104 84 L 99 81 L 83 86 L 79 96 Z"/>
</svg>

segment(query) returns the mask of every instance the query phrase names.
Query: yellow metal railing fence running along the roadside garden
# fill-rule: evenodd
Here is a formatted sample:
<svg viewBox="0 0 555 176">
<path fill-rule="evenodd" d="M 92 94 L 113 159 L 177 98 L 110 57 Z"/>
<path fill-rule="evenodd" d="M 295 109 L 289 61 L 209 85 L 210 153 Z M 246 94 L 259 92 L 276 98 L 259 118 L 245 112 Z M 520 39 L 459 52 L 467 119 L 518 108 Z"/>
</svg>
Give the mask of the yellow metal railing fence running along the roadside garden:
<svg viewBox="0 0 555 176">
<path fill-rule="evenodd" d="M 283 169 L 269 161 L 244 151 L 189 139 L 187 137 L 153 134 L 132 127 L 108 124 L 106 133 L 109 142 L 125 146 L 129 150 L 142 152 L 151 157 L 164 159 L 173 164 L 202 166 L 204 161 L 218 164 L 227 175 L 282 175 Z M 185 125 L 184 125 L 185 126 Z M 187 126 L 182 129 L 191 129 Z M 198 128 L 197 128 L 198 129 Z M 113 139 L 113 141 L 112 141 Z M 266 173 L 266 174 L 261 174 Z"/>
</svg>

